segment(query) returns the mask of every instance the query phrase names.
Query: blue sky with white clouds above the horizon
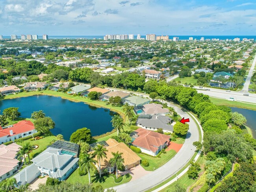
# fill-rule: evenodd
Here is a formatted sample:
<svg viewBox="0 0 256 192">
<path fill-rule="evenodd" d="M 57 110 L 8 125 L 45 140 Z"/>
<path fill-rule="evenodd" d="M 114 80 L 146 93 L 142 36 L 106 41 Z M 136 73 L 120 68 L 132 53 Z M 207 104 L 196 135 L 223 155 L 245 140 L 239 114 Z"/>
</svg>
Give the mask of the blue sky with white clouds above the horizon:
<svg viewBox="0 0 256 192">
<path fill-rule="evenodd" d="M 0 0 L 1 35 L 256 35 L 256 0 Z"/>
</svg>

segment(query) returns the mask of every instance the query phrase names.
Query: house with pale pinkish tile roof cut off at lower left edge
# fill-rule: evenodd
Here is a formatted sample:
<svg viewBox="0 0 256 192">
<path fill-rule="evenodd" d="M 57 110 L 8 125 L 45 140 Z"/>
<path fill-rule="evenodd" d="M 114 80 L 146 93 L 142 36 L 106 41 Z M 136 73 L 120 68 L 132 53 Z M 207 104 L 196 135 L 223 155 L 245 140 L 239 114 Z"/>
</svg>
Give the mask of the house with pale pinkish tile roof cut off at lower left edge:
<svg viewBox="0 0 256 192">
<path fill-rule="evenodd" d="M 19 160 L 17 160 L 17 152 L 21 146 L 16 143 L 9 145 L 0 145 L 0 181 L 10 177 L 19 168 Z"/>
</svg>

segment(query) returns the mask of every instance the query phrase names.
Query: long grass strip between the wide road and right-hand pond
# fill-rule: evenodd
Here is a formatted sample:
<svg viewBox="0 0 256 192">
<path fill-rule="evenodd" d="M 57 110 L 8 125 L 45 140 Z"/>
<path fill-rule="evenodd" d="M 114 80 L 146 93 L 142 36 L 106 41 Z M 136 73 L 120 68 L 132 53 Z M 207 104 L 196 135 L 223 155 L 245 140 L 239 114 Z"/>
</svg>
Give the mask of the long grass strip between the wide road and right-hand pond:
<svg viewBox="0 0 256 192">
<path fill-rule="evenodd" d="M 226 105 L 229 107 L 239 107 L 239 108 L 244 108 L 244 109 L 251 109 L 256 111 L 256 105 L 250 104 L 250 103 L 242 103 L 242 102 L 236 102 L 236 101 L 229 101 L 225 99 L 218 99 L 218 98 L 213 98 L 210 97 L 211 102 L 216 105 Z"/>
</svg>

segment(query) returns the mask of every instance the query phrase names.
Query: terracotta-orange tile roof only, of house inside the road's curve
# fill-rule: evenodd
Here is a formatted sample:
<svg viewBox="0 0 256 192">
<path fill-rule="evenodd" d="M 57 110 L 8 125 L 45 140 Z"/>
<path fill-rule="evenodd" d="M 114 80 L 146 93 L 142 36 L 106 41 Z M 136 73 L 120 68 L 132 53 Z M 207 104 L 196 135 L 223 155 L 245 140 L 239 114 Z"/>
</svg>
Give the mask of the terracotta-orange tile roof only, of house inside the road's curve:
<svg viewBox="0 0 256 192">
<path fill-rule="evenodd" d="M 160 145 L 170 141 L 170 137 L 168 135 L 156 133 L 154 131 L 139 128 L 135 132 L 137 132 L 139 137 L 136 138 L 132 144 L 150 150 L 154 153 L 158 150 Z"/>
</svg>

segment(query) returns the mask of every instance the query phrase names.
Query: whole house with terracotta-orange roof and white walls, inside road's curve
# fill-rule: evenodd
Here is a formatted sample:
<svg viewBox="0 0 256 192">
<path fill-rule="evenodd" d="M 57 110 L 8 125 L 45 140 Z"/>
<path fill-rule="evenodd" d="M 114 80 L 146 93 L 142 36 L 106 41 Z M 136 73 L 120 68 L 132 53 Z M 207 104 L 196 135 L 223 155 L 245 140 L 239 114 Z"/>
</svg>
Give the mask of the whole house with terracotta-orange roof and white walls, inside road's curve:
<svg viewBox="0 0 256 192">
<path fill-rule="evenodd" d="M 170 136 L 139 128 L 131 134 L 132 145 L 140 148 L 141 152 L 156 156 L 170 142 Z"/>
</svg>

